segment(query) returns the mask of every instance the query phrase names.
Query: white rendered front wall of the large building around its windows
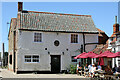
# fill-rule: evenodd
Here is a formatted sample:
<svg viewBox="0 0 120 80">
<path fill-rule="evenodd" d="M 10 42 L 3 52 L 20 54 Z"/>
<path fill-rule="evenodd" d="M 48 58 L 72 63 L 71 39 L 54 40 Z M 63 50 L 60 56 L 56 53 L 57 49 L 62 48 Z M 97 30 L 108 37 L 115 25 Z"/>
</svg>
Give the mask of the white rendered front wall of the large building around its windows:
<svg viewBox="0 0 120 80">
<path fill-rule="evenodd" d="M 78 49 L 83 44 L 83 35 L 79 33 L 79 43 L 70 43 L 71 33 L 56 33 L 56 32 L 40 32 L 42 33 L 42 42 L 34 42 L 35 31 L 21 31 L 18 34 L 18 49 L 17 49 L 17 69 L 20 70 L 51 70 L 50 55 L 61 55 L 61 70 L 69 68 L 71 63 L 71 56 L 80 54 Z M 38 31 L 37 31 L 38 32 Z M 87 34 L 86 43 L 97 43 L 98 34 Z M 59 46 L 54 46 L 54 41 L 60 41 Z M 96 45 L 86 46 L 86 50 L 90 51 Z M 45 50 L 47 48 L 47 50 Z M 68 49 L 68 51 L 66 50 Z M 50 52 L 50 54 L 48 54 Z M 62 53 L 64 52 L 64 54 Z M 39 63 L 24 63 L 24 55 L 40 55 Z"/>
</svg>

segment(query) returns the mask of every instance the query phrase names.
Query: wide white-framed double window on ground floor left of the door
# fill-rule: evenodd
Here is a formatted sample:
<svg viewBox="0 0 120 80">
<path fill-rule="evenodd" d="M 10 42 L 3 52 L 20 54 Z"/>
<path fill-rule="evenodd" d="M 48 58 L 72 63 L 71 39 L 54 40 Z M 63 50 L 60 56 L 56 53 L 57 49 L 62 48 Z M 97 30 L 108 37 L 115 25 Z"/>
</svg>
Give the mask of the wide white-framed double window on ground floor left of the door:
<svg viewBox="0 0 120 80">
<path fill-rule="evenodd" d="M 38 63 L 38 62 L 40 62 L 39 55 L 25 55 L 24 59 L 25 59 L 25 62 L 27 62 L 27 63 Z"/>
</svg>

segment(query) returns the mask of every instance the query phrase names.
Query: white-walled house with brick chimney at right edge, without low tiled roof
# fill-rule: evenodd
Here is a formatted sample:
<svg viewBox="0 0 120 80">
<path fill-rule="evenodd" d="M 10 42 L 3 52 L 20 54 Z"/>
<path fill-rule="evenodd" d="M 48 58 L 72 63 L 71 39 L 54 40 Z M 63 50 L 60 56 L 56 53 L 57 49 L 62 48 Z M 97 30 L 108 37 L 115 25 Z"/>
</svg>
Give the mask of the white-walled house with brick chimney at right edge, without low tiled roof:
<svg viewBox="0 0 120 80">
<path fill-rule="evenodd" d="M 112 49 L 112 52 L 116 53 L 120 51 L 120 31 L 119 31 L 119 24 L 117 23 L 117 16 L 115 18 L 115 24 L 113 25 L 113 34 L 109 38 L 109 49 Z M 117 65 L 120 66 L 120 58 L 113 58 L 112 59 L 112 67 Z"/>
</svg>

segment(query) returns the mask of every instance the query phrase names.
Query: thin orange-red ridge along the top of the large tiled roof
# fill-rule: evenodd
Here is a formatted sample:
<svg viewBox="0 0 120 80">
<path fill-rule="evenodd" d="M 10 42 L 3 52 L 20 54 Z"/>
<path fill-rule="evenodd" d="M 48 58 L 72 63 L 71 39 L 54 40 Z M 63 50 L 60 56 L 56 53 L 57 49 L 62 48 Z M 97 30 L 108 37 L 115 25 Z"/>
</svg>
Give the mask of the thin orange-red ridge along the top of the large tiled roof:
<svg viewBox="0 0 120 80">
<path fill-rule="evenodd" d="M 23 12 L 24 12 L 24 11 L 23 11 Z M 86 17 L 91 17 L 91 15 L 66 14 L 66 13 L 54 13 L 54 12 L 39 12 L 39 11 L 26 11 L 26 12 L 33 12 L 33 13 L 44 13 L 44 14 L 59 14 L 59 15 L 70 15 L 70 16 L 86 16 Z"/>
</svg>

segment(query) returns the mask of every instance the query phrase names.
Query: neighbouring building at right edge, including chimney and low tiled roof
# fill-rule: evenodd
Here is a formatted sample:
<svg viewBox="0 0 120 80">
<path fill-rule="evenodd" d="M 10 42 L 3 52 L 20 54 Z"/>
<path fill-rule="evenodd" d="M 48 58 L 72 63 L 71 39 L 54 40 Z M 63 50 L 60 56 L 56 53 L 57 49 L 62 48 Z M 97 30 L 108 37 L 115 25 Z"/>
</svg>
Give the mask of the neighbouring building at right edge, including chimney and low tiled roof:
<svg viewBox="0 0 120 80">
<path fill-rule="evenodd" d="M 106 40 L 105 44 L 99 44 L 96 46 L 94 53 L 100 54 L 100 52 L 111 51 L 111 52 L 118 52 L 119 49 L 119 24 L 117 23 L 117 16 L 115 16 L 115 24 L 113 25 L 113 34 Z M 104 58 L 105 65 L 110 65 L 112 68 L 117 64 L 120 66 L 120 59 L 119 58 Z"/>
</svg>

